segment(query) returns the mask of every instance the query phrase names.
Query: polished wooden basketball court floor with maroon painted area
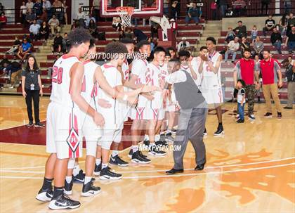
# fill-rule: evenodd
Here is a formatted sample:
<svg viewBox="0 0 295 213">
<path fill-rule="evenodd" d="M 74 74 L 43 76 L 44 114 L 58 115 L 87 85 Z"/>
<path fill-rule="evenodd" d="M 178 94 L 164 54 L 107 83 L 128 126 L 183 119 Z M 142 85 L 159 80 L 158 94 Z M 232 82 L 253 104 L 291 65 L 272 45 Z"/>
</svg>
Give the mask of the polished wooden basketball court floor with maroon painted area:
<svg viewBox="0 0 295 213">
<path fill-rule="evenodd" d="M 44 120 L 48 98 L 41 98 Z M 82 198 L 74 184 L 73 199 L 81 201 L 75 212 L 294 212 L 295 110 L 284 110 L 282 120 L 265 119 L 265 105 L 256 104 L 255 122 L 235 123 L 235 103 L 223 106 L 225 135 L 214 137 L 216 115 L 207 117 L 207 163 L 195 172 L 191 145 L 185 154 L 185 172 L 167 176 L 173 166 L 172 151 L 152 158 L 148 165 L 115 167 L 119 181 L 100 181 L 102 192 Z M 51 212 L 33 199 L 39 191 L 48 157 L 46 129 L 27 129 L 25 101 L 5 96 L 0 101 L 0 202 L 1 212 Z M 13 134 L 13 135 L 12 135 Z M 11 143 L 6 143 L 11 142 Z M 39 145 L 36 145 L 39 144 Z M 41 144 L 41 145 L 40 145 Z M 84 150 L 85 151 L 85 150 Z M 121 150 L 126 157 L 129 148 Z M 84 157 L 79 164 L 84 169 Z"/>
</svg>

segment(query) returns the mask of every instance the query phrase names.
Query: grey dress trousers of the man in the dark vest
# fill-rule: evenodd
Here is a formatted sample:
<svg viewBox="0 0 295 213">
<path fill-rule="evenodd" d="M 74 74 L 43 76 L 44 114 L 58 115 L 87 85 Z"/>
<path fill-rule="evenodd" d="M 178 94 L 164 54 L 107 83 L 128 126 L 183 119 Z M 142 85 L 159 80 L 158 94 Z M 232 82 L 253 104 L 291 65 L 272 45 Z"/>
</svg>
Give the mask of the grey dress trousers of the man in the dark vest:
<svg viewBox="0 0 295 213">
<path fill-rule="evenodd" d="M 206 162 L 206 148 L 203 141 L 203 134 L 207 112 L 207 108 L 181 110 L 176 139 L 173 143 L 174 169 L 183 169 L 183 156 L 188 146 L 188 140 L 190 140 L 195 150 L 196 164 Z"/>
</svg>

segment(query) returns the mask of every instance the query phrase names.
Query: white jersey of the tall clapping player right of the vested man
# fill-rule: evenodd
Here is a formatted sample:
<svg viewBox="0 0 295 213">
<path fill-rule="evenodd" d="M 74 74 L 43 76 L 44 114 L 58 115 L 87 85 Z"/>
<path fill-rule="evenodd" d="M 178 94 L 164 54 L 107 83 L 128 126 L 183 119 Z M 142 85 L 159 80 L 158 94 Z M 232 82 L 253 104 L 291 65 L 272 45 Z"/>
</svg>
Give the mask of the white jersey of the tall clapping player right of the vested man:
<svg viewBox="0 0 295 213">
<path fill-rule="evenodd" d="M 215 67 L 219 56 L 221 56 L 221 54 L 214 51 L 214 53 L 208 55 L 208 63 L 211 63 Z M 215 74 L 213 71 L 210 70 L 210 67 L 206 62 L 203 63 L 201 87 L 202 89 L 221 88 L 221 66 L 219 67 L 218 72 Z"/>
</svg>

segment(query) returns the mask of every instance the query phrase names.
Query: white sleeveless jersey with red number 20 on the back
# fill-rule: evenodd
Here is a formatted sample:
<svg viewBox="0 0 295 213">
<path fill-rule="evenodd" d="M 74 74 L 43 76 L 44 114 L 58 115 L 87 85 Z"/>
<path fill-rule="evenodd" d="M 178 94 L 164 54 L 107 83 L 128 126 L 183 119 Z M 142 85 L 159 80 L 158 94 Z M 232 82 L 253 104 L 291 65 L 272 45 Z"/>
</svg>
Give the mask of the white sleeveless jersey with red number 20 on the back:
<svg viewBox="0 0 295 213">
<path fill-rule="evenodd" d="M 70 95 L 70 70 L 74 63 L 80 63 L 75 56 L 63 55 L 53 65 L 50 100 L 67 107 L 77 107 Z"/>
</svg>

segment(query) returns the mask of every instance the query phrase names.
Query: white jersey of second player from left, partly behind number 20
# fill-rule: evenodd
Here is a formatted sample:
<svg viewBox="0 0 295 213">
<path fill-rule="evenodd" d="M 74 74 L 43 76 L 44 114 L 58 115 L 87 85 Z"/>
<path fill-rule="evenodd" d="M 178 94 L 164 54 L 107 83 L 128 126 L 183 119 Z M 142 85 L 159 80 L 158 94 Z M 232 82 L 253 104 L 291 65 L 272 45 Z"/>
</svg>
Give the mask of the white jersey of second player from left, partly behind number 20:
<svg viewBox="0 0 295 213">
<path fill-rule="evenodd" d="M 98 82 L 93 83 L 93 79 L 97 67 L 99 67 L 99 65 L 93 61 L 84 62 L 85 72 L 81 89 L 81 96 L 83 96 L 85 101 L 96 111 L 98 110 Z"/>
</svg>

